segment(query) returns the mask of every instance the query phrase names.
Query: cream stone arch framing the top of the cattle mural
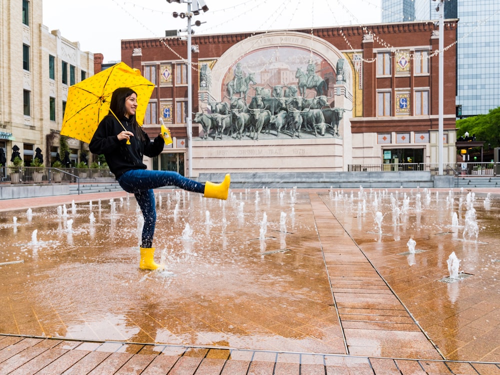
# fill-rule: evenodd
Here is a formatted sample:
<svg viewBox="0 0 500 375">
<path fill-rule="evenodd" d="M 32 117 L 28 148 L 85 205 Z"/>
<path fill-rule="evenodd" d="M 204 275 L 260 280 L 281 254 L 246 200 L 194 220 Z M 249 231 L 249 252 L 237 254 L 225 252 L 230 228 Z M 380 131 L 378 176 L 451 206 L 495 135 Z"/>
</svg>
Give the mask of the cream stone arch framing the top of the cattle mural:
<svg viewBox="0 0 500 375">
<path fill-rule="evenodd" d="M 311 49 L 316 55 L 323 58 L 332 67 L 336 66 L 339 58 L 345 56 L 332 44 L 314 35 L 308 35 L 296 31 L 273 31 L 265 34 L 250 36 L 225 51 L 217 60 L 211 71 L 212 89 L 211 95 L 217 101 L 221 101 L 224 95 L 223 79 L 227 70 L 232 67 L 243 55 L 253 50 L 269 47 L 296 47 L 300 49 Z M 348 69 L 349 78 L 345 83 L 346 97 L 352 97 L 352 77 L 354 76 L 350 64 L 344 64 Z M 352 105 L 350 105 L 352 108 Z"/>
</svg>

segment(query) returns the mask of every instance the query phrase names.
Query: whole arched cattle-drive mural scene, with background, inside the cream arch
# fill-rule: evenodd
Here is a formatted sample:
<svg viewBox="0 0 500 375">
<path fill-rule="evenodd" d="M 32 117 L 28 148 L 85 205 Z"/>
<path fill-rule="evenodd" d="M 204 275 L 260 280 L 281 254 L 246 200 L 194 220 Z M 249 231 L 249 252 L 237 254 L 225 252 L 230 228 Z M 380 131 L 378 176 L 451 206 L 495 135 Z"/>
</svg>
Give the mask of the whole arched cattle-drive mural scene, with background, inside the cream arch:
<svg viewBox="0 0 500 375">
<path fill-rule="evenodd" d="M 344 108 L 333 99 L 335 83 L 345 82 L 343 59 L 335 67 L 310 50 L 273 47 L 253 50 L 227 66 L 221 87 L 211 87 L 201 65 L 201 140 L 270 137 L 341 137 Z M 210 94 L 221 89 L 220 94 Z M 216 100 L 221 97 L 222 100 Z"/>
</svg>

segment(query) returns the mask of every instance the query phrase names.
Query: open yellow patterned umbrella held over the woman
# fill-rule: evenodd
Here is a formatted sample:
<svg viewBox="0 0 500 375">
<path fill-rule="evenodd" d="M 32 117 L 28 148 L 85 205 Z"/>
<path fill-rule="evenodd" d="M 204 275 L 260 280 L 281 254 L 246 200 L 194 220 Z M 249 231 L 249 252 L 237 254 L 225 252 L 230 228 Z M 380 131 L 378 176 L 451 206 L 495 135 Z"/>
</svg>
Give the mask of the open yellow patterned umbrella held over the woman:
<svg viewBox="0 0 500 375">
<path fill-rule="evenodd" d="M 142 125 L 154 83 L 140 75 L 138 69 L 119 62 L 69 86 L 60 133 L 89 143 L 97 125 L 109 113 L 111 94 L 118 87 L 137 92 L 135 118 Z"/>
</svg>

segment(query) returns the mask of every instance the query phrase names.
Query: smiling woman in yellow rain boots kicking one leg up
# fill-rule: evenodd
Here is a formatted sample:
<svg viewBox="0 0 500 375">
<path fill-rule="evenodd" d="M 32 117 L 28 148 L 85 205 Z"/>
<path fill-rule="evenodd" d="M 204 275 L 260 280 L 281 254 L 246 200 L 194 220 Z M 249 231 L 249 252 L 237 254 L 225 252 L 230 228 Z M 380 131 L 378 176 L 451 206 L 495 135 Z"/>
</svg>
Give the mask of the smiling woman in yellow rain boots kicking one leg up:
<svg viewBox="0 0 500 375">
<path fill-rule="evenodd" d="M 144 217 L 140 245 L 139 268 L 156 269 L 152 247 L 156 223 L 156 203 L 153 188 L 175 185 L 184 190 L 202 192 L 207 198 L 227 199 L 230 176 L 215 184 L 204 184 L 181 176 L 177 172 L 148 170 L 142 157 L 157 156 L 164 145 L 162 131 L 152 141 L 135 119 L 137 94 L 131 88 L 120 87 L 113 91 L 109 113 L 99 123 L 88 148 L 92 153 L 104 154 L 107 165 L 120 186 L 133 193 Z M 165 133 L 166 134 L 166 133 Z"/>
</svg>

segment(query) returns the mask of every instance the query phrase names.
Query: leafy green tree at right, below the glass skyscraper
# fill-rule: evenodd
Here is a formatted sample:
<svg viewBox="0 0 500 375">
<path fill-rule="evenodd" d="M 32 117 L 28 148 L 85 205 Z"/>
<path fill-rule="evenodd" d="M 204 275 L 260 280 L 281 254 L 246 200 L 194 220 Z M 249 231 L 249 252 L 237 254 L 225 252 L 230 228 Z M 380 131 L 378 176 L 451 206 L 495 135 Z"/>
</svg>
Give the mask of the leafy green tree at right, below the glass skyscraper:
<svg viewBox="0 0 500 375">
<path fill-rule="evenodd" d="M 491 144 L 491 147 L 500 146 L 500 107 L 490 109 L 488 114 L 478 114 L 456 121 L 456 135 L 463 136 L 465 131 L 469 136 L 475 135 L 476 140 Z"/>
</svg>

